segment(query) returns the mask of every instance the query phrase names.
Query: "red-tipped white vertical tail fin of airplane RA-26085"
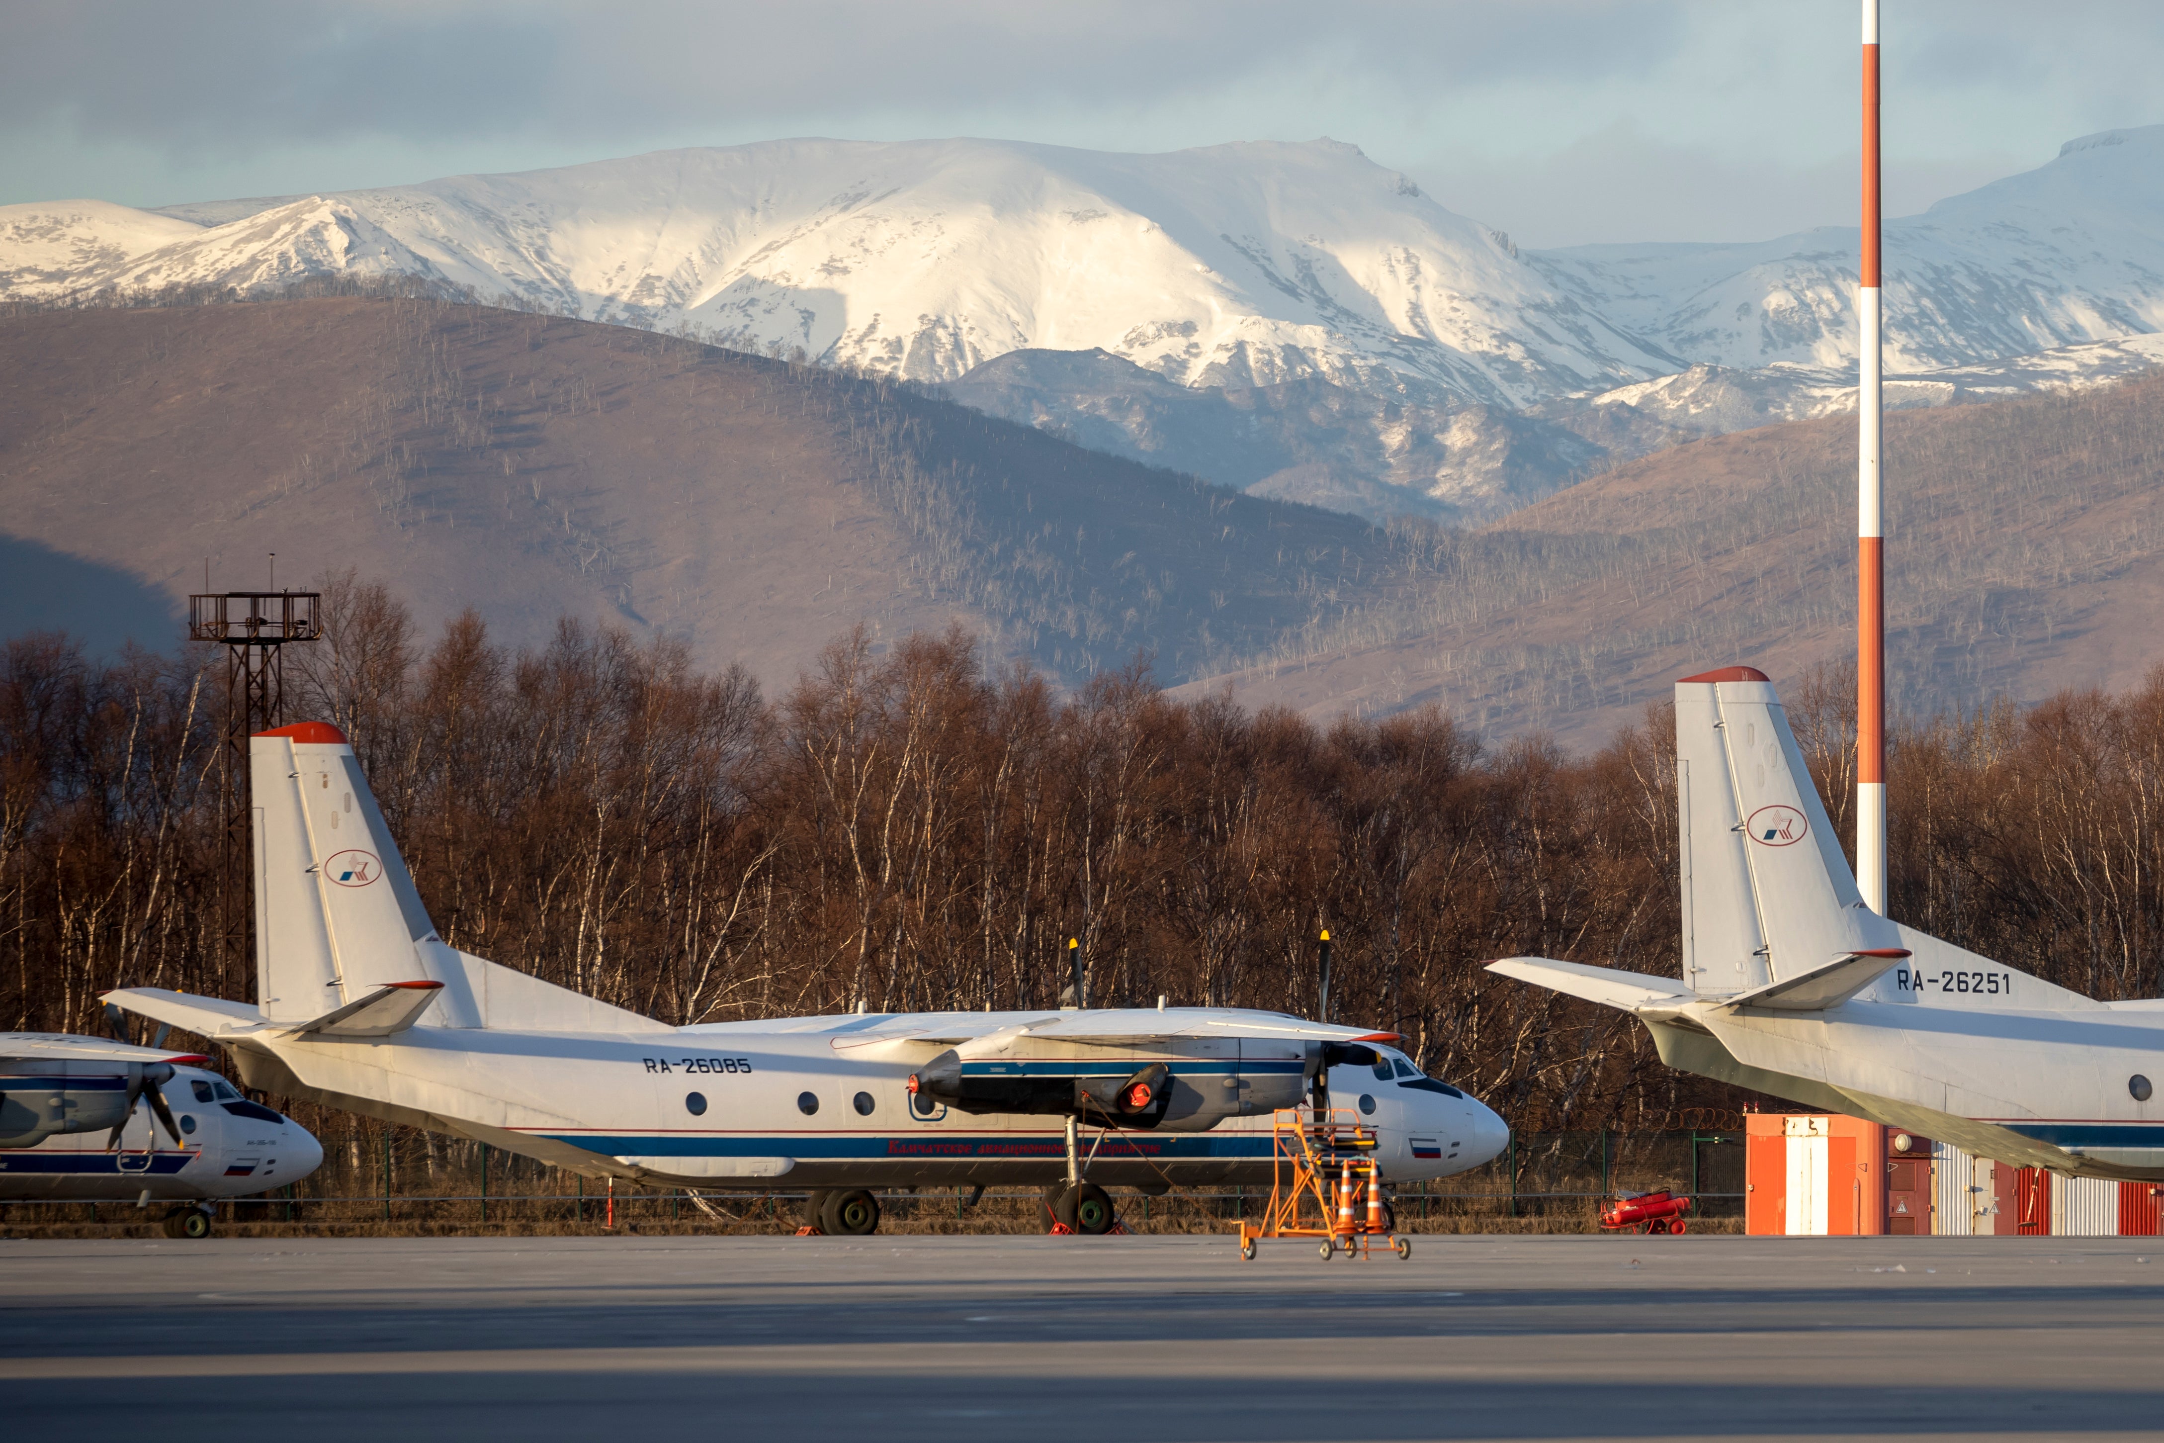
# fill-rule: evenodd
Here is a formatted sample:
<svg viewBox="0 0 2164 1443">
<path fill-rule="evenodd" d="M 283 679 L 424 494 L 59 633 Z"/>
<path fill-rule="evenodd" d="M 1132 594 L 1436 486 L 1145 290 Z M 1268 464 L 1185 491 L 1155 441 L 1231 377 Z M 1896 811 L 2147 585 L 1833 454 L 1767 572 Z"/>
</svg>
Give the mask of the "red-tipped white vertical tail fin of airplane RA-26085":
<svg viewBox="0 0 2164 1443">
<path fill-rule="evenodd" d="M 396 995 L 411 1010 L 396 1019 L 396 1030 L 422 1010 L 439 1028 L 634 1032 L 656 1025 L 446 945 L 338 727 L 301 723 L 255 733 L 249 738 L 249 781 L 255 995 L 264 1021 L 322 1025 L 340 1008 L 403 989 Z M 413 982 L 441 987 L 415 989 Z"/>
</svg>

